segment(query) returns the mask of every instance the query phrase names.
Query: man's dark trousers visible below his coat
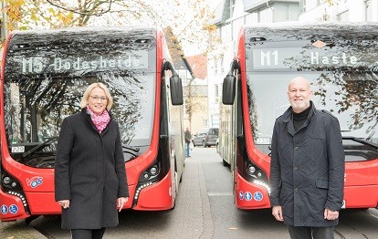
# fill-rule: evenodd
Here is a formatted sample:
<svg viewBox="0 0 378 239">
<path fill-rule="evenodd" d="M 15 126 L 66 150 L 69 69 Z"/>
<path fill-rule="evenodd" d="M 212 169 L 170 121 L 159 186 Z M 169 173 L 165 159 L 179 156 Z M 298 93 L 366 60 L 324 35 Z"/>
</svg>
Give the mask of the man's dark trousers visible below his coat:
<svg viewBox="0 0 378 239">
<path fill-rule="evenodd" d="M 311 227 L 288 225 L 291 239 L 333 239 L 334 226 Z"/>
</svg>

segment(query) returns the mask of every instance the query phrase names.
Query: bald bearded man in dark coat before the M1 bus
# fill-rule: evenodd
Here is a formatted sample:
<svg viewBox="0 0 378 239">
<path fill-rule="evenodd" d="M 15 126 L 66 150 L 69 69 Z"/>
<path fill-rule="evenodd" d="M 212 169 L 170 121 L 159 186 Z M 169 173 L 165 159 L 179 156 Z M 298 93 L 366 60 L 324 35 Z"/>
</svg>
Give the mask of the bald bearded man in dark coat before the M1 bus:
<svg viewBox="0 0 378 239">
<path fill-rule="evenodd" d="M 345 155 L 339 121 L 310 101 L 310 82 L 289 82 L 291 107 L 275 123 L 270 184 L 273 216 L 291 238 L 329 239 L 339 223 Z"/>
</svg>

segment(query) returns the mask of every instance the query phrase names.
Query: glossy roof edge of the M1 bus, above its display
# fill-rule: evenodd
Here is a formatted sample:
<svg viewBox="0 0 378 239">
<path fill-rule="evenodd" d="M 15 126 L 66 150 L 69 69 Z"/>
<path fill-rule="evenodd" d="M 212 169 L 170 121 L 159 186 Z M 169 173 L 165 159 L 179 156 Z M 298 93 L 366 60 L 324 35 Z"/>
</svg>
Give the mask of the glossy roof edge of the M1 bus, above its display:
<svg viewBox="0 0 378 239">
<path fill-rule="evenodd" d="M 312 38 L 378 39 L 378 23 L 346 22 L 282 22 L 244 26 L 242 31 L 249 37 L 264 37 L 268 41 L 307 40 Z M 247 43 L 247 40 L 246 40 Z"/>
</svg>

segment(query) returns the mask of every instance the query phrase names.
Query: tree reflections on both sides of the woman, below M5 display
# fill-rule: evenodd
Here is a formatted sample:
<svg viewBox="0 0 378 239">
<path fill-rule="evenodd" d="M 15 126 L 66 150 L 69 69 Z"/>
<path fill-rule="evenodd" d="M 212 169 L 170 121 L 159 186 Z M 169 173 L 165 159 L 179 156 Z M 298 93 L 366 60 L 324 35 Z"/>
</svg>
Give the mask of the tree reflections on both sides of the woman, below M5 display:
<svg viewBox="0 0 378 239">
<path fill-rule="evenodd" d="M 138 75 L 136 75 L 138 76 Z M 153 83 L 120 72 L 101 72 L 82 78 L 44 78 L 5 81 L 5 127 L 10 142 L 42 141 L 58 136 L 61 122 L 79 112 L 79 102 L 85 89 L 94 82 L 103 82 L 114 99 L 112 115 L 119 121 L 121 138 L 130 143 L 138 135 L 135 125 L 143 110 L 151 110 L 143 100 L 152 96 Z M 148 120 L 148 119 L 147 119 Z M 151 120 L 148 120 L 150 122 Z M 148 130 L 148 129 L 144 129 Z"/>
</svg>

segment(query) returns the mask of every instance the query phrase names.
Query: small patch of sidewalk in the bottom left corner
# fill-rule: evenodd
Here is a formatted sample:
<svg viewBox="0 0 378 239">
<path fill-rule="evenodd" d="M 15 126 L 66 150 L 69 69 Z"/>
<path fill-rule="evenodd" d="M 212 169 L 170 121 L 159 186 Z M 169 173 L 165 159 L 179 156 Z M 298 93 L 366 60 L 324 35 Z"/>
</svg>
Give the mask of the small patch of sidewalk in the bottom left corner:
<svg viewBox="0 0 378 239">
<path fill-rule="evenodd" d="M 0 238 L 2 239 L 46 239 L 36 229 L 25 223 L 25 220 L 0 222 Z"/>
</svg>

